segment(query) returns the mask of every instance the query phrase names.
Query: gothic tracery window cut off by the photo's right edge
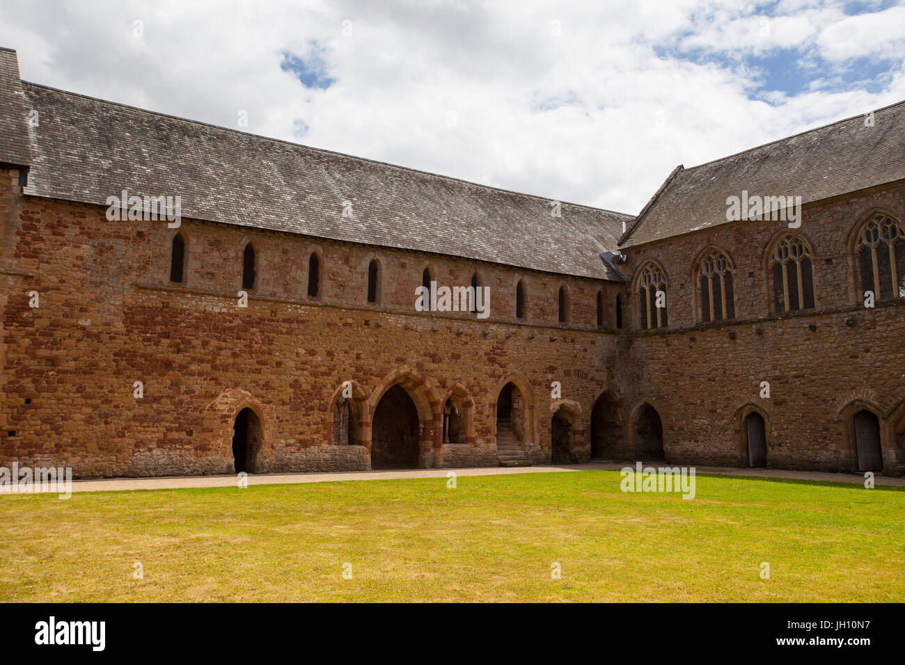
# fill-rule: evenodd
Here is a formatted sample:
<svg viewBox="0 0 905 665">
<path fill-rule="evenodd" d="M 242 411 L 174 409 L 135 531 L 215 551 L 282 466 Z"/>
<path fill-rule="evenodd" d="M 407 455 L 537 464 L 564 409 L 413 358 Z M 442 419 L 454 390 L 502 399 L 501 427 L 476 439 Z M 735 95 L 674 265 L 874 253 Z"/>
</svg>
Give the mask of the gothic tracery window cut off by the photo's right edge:
<svg viewBox="0 0 905 665">
<path fill-rule="evenodd" d="M 875 214 L 862 227 L 855 247 L 862 294 L 875 299 L 905 298 L 905 229 L 885 214 Z"/>
</svg>

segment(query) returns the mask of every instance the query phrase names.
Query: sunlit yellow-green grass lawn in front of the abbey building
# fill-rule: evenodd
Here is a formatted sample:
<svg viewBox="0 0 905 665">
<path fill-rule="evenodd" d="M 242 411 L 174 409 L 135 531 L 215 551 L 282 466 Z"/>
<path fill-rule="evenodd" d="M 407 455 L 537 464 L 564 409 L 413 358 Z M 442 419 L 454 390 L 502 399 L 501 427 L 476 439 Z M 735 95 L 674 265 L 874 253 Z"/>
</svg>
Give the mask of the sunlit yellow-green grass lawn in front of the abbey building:
<svg viewBox="0 0 905 665">
<path fill-rule="evenodd" d="M 905 601 L 901 488 L 698 476 L 685 500 L 619 480 L 5 495 L 0 601 Z"/>
</svg>

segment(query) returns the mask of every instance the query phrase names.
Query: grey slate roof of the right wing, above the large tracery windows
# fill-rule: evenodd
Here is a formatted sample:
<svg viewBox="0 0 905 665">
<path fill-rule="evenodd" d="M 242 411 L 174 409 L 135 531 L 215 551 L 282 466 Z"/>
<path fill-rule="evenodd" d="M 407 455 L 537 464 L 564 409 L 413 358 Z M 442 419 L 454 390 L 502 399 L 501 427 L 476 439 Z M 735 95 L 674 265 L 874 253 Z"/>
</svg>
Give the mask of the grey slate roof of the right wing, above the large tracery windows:
<svg viewBox="0 0 905 665">
<path fill-rule="evenodd" d="M 667 178 L 622 238 L 623 247 L 690 233 L 726 219 L 729 196 L 800 195 L 808 204 L 905 178 L 905 101 L 840 120 Z"/>
</svg>

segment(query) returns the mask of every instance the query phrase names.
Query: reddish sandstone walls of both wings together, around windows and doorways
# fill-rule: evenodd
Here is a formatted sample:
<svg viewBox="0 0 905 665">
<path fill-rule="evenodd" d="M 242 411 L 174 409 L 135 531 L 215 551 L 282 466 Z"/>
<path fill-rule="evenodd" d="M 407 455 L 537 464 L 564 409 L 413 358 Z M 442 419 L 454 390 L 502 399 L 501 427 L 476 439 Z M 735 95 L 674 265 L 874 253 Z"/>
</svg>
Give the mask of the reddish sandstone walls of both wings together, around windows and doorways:
<svg viewBox="0 0 905 665">
<path fill-rule="evenodd" d="M 889 472 L 905 462 L 905 308 L 864 309 L 848 252 L 853 224 L 881 207 L 903 216 L 905 187 L 877 188 L 805 210 L 801 232 L 816 261 L 817 310 L 767 315 L 763 253 L 783 223 L 731 224 L 633 250 L 627 275 L 647 258 L 669 278 L 671 329 L 624 332 L 613 303 L 623 286 L 537 271 L 475 265 L 418 252 L 185 222 L 186 284 L 168 282 L 173 230 L 166 223 L 110 223 L 97 206 L 16 195 L 16 174 L 0 188 L 0 465 L 71 465 L 77 476 L 232 471 L 233 416 L 262 415 L 261 470 L 367 468 L 370 417 L 401 382 L 422 424 L 425 466 L 497 464 L 496 395 L 510 377 L 533 398 L 529 457 L 548 461 L 550 419 L 563 406 L 575 420 L 576 458 L 590 452 L 595 399 L 617 404 L 612 451 L 633 457 L 635 414 L 644 402 L 662 417 L 676 462 L 744 465 L 745 409 L 767 416 L 770 466 L 853 470 L 853 404 L 878 413 Z M 241 255 L 254 242 L 258 281 L 248 309 L 235 306 Z M 697 325 L 694 258 L 713 244 L 736 265 L 730 324 Z M 308 255 L 322 252 L 322 292 L 304 296 Z M 381 300 L 366 302 L 367 264 L 382 266 Z M 414 312 L 425 266 L 441 284 L 468 285 L 477 268 L 491 287 L 491 318 Z M 514 290 L 528 286 L 528 323 L 515 320 Z M 572 318 L 557 323 L 557 289 L 567 284 Z M 595 329 L 605 290 L 604 332 Z M 41 306 L 28 307 L 38 290 Z M 333 446 L 332 404 L 355 385 L 353 437 Z M 768 400 L 760 381 L 771 384 Z M 132 396 L 133 382 L 145 396 Z M 552 402 L 550 382 L 563 398 Z M 470 409 L 466 443 L 443 445 L 443 401 Z M 25 404 L 31 400 L 31 404 Z M 849 407 L 849 408 L 847 408 Z M 13 437 L 8 432 L 15 432 Z"/>
</svg>

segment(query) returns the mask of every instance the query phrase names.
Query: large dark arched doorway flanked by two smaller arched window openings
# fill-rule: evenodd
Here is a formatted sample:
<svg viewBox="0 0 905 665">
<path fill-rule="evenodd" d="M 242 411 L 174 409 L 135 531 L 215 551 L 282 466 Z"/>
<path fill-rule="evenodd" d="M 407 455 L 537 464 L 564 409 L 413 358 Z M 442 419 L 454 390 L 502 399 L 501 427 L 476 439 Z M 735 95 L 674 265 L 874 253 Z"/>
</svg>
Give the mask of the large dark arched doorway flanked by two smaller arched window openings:
<svg viewBox="0 0 905 665">
<path fill-rule="evenodd" d="M 412 397 L 401 385 L 393 385 L 374 410 L 371 468 L 417 468 L 419 429 L 418 409 Z"/>
</svg>

